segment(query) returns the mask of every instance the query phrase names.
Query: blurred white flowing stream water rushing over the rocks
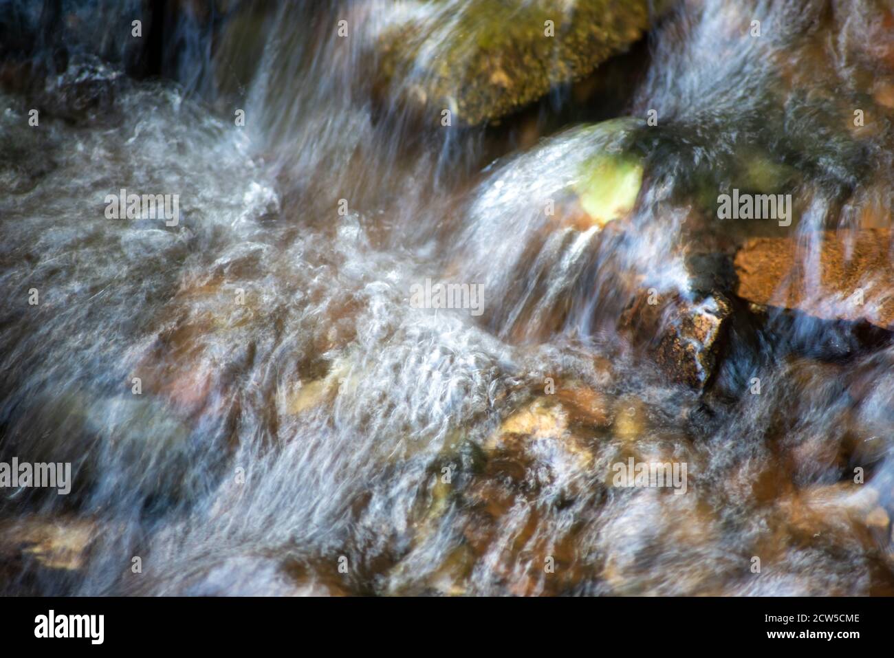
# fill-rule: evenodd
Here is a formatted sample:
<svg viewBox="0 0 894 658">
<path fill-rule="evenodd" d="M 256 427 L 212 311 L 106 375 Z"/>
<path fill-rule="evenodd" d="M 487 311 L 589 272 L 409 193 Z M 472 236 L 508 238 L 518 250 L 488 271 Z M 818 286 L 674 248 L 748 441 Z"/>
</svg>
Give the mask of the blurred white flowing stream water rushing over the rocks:
<svg viewBox="0 0 894 658">
<path fill-rule="evenodd" d="M 817 229 L 890 202 L 882 4 L 682 3 L 627 118 L 555 121 L 586 114 L 562 88 L 496 128 L 420 126 L 374 89 L 371 45 L 466 2 L 257 4 L 219 17 L 214 51 L 184 13 L 160 79 L 123 72 L 139 3 L 63 3 L 105 61 L 38 44 L 39 84 L 7 73 L 0 460 L 71 462 L 72 492 L 4 490 L 0 533 L 38 519 L 89 549 L 6 560 L 0 590 L 894 593 L 890 340 L 737 302 L 699 393 L 618 329 L 631 286 L 696 301 L 693 255 L 768 230 L 691 201 L 755 154 L 799 173 L 808 271 Z M 872 130 L 848 130 L 854 107 Z M 645 158 L 633 215 L 544 214 L 619 151 Z M 179 222 L 107 217 L 122 189 L 179 195 Z M 481 314 L 417 308 L 426 279 L 482 284 Z M 613 486 L 628 458 L 687 464 L 686 494 Z"/>
</svg>

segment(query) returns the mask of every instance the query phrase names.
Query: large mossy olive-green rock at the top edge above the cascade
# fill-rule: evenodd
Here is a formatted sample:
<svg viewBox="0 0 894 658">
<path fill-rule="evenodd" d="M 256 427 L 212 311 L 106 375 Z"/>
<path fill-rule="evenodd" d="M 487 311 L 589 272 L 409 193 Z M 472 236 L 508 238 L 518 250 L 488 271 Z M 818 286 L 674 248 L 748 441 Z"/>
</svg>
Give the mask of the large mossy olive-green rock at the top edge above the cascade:
<svg viewBox="0 0 894 658">
<path fill-rule="evenodd" d="M 430 0 L 401 18 L 378 39 L 382 93 L 465 125 L 584 77 L 650 24 L 646 0 Z"/>
</svg>

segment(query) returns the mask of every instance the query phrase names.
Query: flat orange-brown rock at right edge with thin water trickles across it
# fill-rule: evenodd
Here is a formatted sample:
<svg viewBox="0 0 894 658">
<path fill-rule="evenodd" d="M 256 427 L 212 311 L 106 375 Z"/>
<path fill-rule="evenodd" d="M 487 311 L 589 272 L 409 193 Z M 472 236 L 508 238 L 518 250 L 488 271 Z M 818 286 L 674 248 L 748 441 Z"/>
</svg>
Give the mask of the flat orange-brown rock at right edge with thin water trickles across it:
<svg viewBox="0 0 894 658">
<path fill-rule="evenodd" d="M 753 238 L 735 259 L 739 297 L 825 320 L 894 329 L 890 229 L 823 232 L 818 289 L 807 289 L 806 254 L 788 238 Z M 862 293 L 862 303 L 860 294 Z"/>
</svg>

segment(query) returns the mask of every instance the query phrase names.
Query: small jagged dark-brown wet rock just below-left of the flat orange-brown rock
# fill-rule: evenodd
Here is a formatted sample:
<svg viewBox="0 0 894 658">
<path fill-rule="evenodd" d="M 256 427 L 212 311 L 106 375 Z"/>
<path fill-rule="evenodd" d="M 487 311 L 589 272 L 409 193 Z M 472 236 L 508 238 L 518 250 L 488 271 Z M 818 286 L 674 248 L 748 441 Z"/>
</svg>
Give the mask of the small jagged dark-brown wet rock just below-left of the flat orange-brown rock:
<svg viewBox="0 0 894 658">
<path fill-rule="evenodd" d="M 672 379 L 702 389 L 713 375 L 729 316 L 730 302 L 719 292 L 696 300 L 643 293 L 621 315 L 620 326 Z"/>
</svg>

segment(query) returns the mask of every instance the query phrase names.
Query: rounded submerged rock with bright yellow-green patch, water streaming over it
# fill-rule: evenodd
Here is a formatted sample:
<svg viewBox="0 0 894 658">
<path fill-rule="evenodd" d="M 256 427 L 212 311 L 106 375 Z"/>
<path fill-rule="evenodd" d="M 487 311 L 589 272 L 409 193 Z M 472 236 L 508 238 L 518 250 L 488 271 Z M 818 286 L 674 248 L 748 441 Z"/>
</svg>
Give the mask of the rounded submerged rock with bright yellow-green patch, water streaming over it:
<svg viewBox="0 0 894 658">
<path fill-rule="evenodd" d="M 631 143 L 646 130 L 634 117 L 578 126 L 508 158 L 478 185 L 456 271 L 502 299 L 485 311 L 502 339 L 541 342 L 574 321 L 610 249 L 603 240 L 620 242 L 644 198 L 643 156 Z"/>
</svg>

